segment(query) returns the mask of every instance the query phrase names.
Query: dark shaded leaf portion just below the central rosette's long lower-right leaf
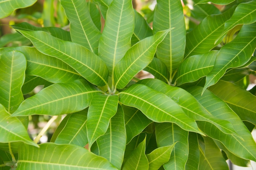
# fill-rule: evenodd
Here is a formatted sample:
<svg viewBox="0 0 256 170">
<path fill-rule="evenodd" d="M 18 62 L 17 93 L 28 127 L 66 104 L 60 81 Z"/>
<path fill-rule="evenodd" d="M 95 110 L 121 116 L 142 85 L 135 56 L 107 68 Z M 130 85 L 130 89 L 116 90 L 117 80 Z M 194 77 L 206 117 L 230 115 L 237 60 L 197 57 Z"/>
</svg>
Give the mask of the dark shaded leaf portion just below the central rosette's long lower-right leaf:
<svg viewBox="0 0 256 170">
<path fill-rule="evenodd" d="M 127 144 L 139 135 L 152 120 L 148 119 L 139 109 L 122 105 L 127 135 Z"/>
</svg>

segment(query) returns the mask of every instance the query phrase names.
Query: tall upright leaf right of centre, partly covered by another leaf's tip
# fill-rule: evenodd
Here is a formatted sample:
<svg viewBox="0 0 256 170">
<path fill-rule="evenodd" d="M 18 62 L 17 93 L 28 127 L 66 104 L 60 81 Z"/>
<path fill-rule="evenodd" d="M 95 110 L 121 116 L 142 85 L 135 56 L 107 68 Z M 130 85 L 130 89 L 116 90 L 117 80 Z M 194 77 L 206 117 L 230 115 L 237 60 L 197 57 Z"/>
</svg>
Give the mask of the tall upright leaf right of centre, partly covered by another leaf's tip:
<svg viewBox="0 0 256 170">
<path fill-rule="evenodd" d="M 183 8 L 180 1 L 157 0 L 153 31 L 156 33 L 170 28 L 174 29 L 157 46 L 156 54 L 157 58 L 167 66 L 171 77 L 172 72 L 179 67 L 184 57 L 186 27 Z"/>
</svg>

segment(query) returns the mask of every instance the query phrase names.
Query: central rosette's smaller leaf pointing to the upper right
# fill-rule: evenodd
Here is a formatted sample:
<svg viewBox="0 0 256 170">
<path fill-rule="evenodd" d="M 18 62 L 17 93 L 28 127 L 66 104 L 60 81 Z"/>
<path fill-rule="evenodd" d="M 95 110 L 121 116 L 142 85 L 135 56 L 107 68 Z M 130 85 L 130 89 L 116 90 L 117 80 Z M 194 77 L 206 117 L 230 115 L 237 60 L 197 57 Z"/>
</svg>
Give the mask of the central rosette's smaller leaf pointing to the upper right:
<svg viewBox="0 0 256 170">
<path fill-rule="evenodd" d="M 153 60 L 157 45 L 162 42 L 170 29 L 159 31 L 132 46 L 114 70 L 116 88 L 124 88 L 139 71 Z"/>
</svg>

